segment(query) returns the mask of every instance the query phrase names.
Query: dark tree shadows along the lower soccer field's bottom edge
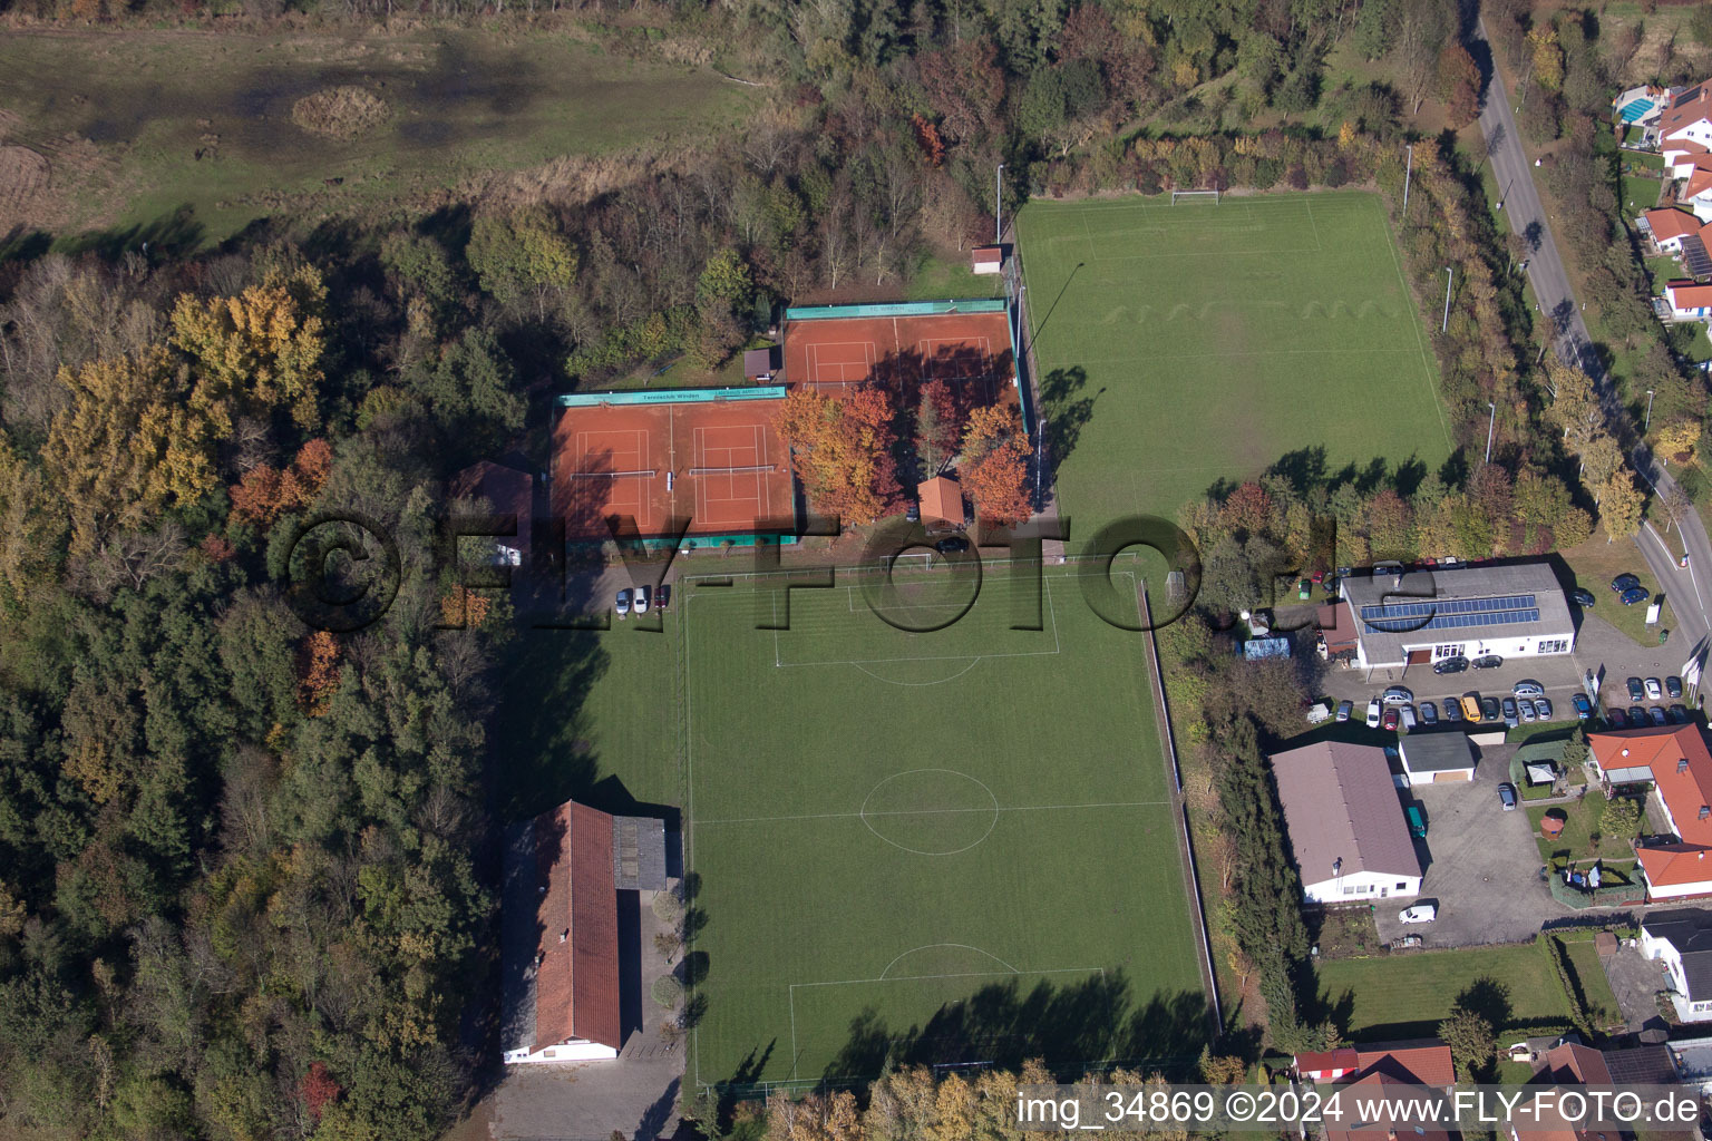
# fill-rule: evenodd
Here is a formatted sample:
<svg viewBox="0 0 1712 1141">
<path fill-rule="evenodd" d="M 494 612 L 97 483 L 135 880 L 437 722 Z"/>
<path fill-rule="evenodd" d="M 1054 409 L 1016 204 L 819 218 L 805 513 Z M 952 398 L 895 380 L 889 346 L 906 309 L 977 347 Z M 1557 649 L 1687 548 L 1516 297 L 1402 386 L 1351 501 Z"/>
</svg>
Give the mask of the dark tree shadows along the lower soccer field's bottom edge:
<svg viewBox="0 0 1712 1141">
<path fill-rule="evenodd" d="M 870 1079 L 889 1066 L 993 1064 L 1015 1069 L 1044 1059 L 1061 1074 L 1125 1062 L 1192 1073 L 1210 1042 L 1205 996 L 1156 992 L 1137 1004 L 1121 970 L 1056 985 L 995 982 L 947 1002 L 923 1025 L 890 1026 L 873 1006 L 849 1023 L 849 1037 L 827 1064 L 827 1081 Z"/>
</svg>

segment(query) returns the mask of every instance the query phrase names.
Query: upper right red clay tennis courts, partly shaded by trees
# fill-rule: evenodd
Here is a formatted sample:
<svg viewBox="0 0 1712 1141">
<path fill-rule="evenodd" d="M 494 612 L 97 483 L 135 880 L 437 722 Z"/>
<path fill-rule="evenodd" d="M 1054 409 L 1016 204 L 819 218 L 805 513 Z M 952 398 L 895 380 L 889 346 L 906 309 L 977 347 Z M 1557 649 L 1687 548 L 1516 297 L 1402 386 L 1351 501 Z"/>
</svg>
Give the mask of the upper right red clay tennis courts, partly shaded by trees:
<svg viewBox="0 0 1712 1141">
<path fill-rule="evenodd" d="M 981 304 L 981 303 L 971 303 Z M 996 311 L 930 311 L 924 304 L 791 310 L 784 327 L 784 380 L 837 395 L 877 380 L 906 397 L 928 380 L 972 387 L 972 402 L 993 404 L 1015 376 L 1010 318 Z M 883 310 L 899 310 L 883 313 Z M 945 310 L 943 304 L 933 304 Z M 842 316 L 858 310 L 859 316 Z M 880 311 L 875 315 L 875 311 Z"/>
</svg>

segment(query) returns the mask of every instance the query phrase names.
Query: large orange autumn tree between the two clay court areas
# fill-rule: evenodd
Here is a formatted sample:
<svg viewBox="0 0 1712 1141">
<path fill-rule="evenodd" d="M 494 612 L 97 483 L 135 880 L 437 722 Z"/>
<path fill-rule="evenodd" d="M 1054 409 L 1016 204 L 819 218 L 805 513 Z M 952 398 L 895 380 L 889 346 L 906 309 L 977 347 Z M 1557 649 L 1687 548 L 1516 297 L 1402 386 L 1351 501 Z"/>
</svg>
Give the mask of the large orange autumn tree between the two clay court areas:
<svg viewBox="0 0 1712 1141">
<path fill-rule="evenodd" d="M 890 395 L 873 385 L 842 399 L 808 388 L 786 395 L 774 429 L 791 448 L 815 511 L 863 527 L 892 510 L 899 494 L 892 419 Z"/>
</svg>

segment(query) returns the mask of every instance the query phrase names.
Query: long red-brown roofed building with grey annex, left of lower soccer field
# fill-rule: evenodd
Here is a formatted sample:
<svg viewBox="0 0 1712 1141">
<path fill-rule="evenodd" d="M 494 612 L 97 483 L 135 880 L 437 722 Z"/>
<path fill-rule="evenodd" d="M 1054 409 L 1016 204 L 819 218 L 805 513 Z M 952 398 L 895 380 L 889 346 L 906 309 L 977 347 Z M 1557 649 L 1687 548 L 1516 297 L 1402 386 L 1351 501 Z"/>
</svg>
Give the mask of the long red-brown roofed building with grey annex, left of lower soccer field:
<svg viewBox="0 0 1712 1141">
<path fill-rule="evenodd" d="M 562 804 L 512 828 L 505 869 L 505 1061 L 618 1057 L 618 893 L 666 886 L 664 825 Z"/>
</svg>

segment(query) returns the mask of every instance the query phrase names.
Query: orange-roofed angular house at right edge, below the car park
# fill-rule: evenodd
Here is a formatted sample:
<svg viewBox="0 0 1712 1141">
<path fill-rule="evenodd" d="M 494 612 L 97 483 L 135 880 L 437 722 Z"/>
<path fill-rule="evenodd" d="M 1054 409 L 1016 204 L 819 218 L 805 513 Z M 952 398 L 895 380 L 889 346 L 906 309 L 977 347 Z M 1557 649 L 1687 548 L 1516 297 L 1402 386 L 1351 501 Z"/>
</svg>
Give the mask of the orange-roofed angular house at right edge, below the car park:
<svg viewBox="0 0 1712 1141">
<path fill-rule="evenodd" d="M 1647 900 L 1712 895 L 1712 753 L 1698 725 L 1647 725 L 1587 734 L 1606 785 L 1652 783 L 1652 799 L 1676 837 L 1635 848 Z"/>
</svg>

